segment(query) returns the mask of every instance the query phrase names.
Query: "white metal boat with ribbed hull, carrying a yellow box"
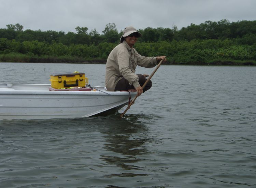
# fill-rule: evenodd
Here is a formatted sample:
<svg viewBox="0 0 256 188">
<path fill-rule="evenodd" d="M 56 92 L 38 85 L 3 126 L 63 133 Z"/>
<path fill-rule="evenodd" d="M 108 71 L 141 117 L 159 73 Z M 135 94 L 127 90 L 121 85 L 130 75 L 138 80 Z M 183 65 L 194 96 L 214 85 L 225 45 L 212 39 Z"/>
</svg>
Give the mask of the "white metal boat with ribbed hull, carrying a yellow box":
<svg viewBox="0 0 256 188">
<path fill-rule="evenodd" d="M 136 92 L 49 90 L 48 84 L 0 84 L 0 120 L 81 118 L 115 112 Z"/>
</svg>

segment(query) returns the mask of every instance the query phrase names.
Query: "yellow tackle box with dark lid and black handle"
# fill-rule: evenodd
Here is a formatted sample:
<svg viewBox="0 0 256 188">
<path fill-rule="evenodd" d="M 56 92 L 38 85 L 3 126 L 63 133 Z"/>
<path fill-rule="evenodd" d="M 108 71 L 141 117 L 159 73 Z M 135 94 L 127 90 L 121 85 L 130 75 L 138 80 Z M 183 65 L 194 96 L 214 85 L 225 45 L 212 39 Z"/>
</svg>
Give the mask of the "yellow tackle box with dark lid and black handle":
<svg viewBox="0 0 256 188">
<path fill-rule="evenodd" d="M 62 72 L 50 74 L 51 86 L 56 89 L 69 87 L 85 87 L 88 84 L 88 78 L 85 73 L 80 72 Z"/>
</svg>

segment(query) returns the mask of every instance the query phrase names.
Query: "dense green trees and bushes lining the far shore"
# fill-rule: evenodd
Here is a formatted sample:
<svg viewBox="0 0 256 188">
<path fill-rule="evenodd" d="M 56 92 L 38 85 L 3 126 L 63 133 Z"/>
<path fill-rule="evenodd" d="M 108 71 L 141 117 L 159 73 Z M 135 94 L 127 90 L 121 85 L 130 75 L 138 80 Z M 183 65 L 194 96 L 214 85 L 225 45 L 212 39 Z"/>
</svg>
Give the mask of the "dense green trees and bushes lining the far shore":
<svg viewBox="0 0 256 188">
<path fill-rule="evenodd" d="M 106 25 L 96 29 L 76 27 L 77 33 L 23 31 L 23 26 L 0 29 L 0 62 L 105 64 L 122 31 Z M 181 30 L 139 29 L 142 37 L 134 48 L 144 56 L 166 55 L 167 65 L 256 65 L 256 20 L 205 21 Z"/>
</svg>

